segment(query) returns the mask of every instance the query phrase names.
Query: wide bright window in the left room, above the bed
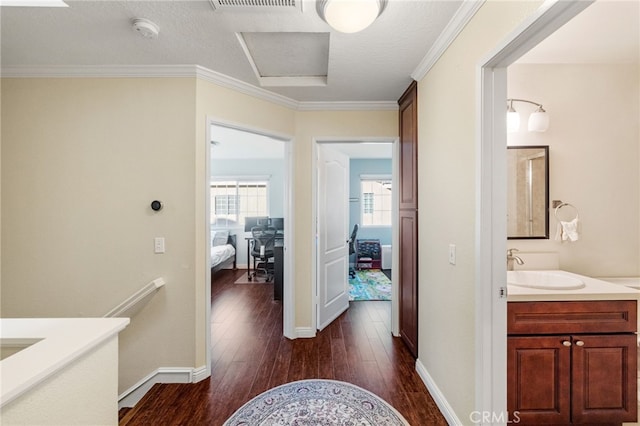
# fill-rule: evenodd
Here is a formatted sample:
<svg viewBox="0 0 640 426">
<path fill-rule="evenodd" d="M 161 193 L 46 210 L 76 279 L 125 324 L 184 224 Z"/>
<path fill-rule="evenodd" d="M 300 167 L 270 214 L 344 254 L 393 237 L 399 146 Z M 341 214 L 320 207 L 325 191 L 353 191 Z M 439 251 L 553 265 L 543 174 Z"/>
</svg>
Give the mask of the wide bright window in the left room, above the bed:
<svg viewBox="0 0 640 426">
<path fill-rule="evenodd" d="M 244 218 L 269 215 L 268 180 L 237 179 L 211 183 L 211 224 L 243 226 Z"/>
</svg>

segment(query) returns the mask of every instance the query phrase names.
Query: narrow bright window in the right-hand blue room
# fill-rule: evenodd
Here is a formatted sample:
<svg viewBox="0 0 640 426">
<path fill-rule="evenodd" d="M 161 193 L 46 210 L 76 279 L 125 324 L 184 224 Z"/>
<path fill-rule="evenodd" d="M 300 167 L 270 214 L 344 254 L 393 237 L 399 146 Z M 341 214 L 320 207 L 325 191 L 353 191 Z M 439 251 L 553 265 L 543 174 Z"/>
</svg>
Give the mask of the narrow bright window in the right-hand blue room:
<svg viewBox="0 0 640 426">
<path fill-rule="evenodd" d="M 360 178 L 362 226 L 391 226 L 391 177 Z"/>
</svg>

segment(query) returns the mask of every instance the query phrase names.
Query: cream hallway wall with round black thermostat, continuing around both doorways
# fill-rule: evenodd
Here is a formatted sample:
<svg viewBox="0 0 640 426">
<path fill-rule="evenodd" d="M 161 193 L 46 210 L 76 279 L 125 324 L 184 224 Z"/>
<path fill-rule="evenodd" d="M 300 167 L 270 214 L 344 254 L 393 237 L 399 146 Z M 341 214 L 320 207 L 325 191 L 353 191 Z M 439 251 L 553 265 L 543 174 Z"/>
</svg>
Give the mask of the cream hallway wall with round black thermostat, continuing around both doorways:
<svg viewBox="0 0 640 426">
<path fill-rule="evenodd" d="M 2 316 L 102 316 L 167 282 L 120 335 L 119 392 L 205 365 L 208 116 L 294 139 L 299 328 L 314 312 L 312 138 L 397 136 L 396 111 L 297 113 L 197 79 L 2 83 Z"/>
</svg>

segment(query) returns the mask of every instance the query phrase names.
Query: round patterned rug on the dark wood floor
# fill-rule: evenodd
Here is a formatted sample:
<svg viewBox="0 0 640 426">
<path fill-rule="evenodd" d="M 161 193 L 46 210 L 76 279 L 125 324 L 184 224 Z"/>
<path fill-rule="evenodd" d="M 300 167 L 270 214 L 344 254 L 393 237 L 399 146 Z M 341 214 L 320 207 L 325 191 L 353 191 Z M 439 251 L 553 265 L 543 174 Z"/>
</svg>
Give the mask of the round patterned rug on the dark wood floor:
<svg viewBox="0 0 640 426">
<path fill-rule="evenodd" d="M 382 398 L 358 386 L 335 380 L 301 380 L 256 396 L 224 426 L 408 424 Z"/>
</svg>

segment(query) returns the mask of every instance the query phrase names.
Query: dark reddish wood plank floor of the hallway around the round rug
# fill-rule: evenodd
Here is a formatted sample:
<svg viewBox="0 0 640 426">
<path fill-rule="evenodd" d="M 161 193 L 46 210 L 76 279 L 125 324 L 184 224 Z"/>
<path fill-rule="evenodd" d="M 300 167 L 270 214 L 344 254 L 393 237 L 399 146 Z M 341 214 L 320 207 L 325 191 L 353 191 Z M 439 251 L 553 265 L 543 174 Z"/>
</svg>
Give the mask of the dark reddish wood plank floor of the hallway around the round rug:
<svg viewBox="0 0 640 426">
<path fill-rule="evenodd" d="M 243 271 L 212 279 L 211 378 L 155 385 L 120 425 L 221 425 L 252 397 L 283 383 L 342 380 L 387 400 L 415 426 L 446 425 L 415 371 L 415 360 L 389 329 L 390 302 L 352 302 L 313 339 L 282 336 L 282 304 L 272 284 L 233 284 Z"/>
</svg>

